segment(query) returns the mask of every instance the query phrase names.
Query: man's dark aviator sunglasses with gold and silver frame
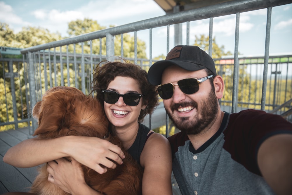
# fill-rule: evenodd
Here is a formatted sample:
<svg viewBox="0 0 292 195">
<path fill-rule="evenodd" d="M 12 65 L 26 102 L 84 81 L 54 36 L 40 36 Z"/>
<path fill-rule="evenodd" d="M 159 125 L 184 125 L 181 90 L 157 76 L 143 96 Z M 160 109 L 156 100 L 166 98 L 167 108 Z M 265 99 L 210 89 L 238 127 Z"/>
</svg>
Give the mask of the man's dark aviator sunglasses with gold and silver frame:
<svg viewBox="0 0 292 195">
<path fill-rule="evenodd" d="M 169 99 L 173 96 L 174 86 L 178 85 L 180 90 L 185 94 L 194 94 L 199 91 L 199 84 L 205 80 L 213 77 L 213 75 L 197 78 L 187 78 L 179 80 L 178 84 L 166 83 L 157 88 L 157 92 L 162 99 Z"/>
</svg>

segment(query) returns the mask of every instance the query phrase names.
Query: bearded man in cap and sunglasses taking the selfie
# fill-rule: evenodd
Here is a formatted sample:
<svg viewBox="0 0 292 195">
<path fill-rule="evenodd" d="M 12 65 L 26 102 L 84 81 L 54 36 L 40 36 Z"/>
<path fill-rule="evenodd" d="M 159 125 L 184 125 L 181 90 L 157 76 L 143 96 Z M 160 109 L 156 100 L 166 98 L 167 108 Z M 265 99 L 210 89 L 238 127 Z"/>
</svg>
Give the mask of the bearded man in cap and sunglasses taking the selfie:
<svg viewBox="0 0 292 195">
<path fill-rule="evenodd" d="M 224 81 L 205 51 L 175 46 L 148 80 L 181 130 L 169 141 L 182 194 L 292 193 L 292 124 L 264 111 L 221 111 Z"/>
</svg>

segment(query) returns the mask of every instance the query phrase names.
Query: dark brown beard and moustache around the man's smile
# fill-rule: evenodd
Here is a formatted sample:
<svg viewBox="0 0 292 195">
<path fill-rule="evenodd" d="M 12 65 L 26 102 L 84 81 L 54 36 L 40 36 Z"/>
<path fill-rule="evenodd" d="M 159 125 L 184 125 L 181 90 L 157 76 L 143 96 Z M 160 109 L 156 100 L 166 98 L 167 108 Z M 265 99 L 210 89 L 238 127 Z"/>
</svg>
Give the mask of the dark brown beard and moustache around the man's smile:
<svg viewBox="0 0 292 195">
<path fill-rule="evenodd" d="M 190 117 L 173 117 L 172 113 L 174 110 L 178 110 L 179 107 L 192 106 L 197 109 L 197 115 L 194 119 L 190 120 Z M 197 102 L 184 102 L 179 104 L 174 104 L 171 106 L 171 111 L 165 109 L 169 118 L 173 121 L 175 127 L 177 127 L 182 132 L 186 132 L 187 134 L 199 134 L 202 132 L 208 125 L 215 120 L 216 115 L 218 114 L 218 99 L 216 98 L 214 90 L 208 95 L 208 99 L 202 103 L 200 106 L 201 110 L 198 110 Z M 201 118 L 199 118 L 199 114 L 201 114 Z"/>
</svg>

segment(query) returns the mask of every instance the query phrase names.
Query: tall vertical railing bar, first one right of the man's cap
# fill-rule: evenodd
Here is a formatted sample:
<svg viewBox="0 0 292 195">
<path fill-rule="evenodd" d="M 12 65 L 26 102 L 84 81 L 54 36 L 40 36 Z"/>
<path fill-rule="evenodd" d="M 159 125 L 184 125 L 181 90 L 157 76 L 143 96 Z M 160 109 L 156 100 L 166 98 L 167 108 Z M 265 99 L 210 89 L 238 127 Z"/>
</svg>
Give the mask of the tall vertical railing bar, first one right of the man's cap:
<svg viewBox="0 0 292 195">
<path fill-rule="evenodd" d="M 237 95 L 238 95 L 238 40 L 239 40 L 239 16 L 240 13 L 236 13 L 236 25 L 235 25 L 235 46 L 234 46 L 234 70 L 233 70 L 233 89 L 232 89 L 232 107 L 231 112 L 237 111 Z"/>
</svg>

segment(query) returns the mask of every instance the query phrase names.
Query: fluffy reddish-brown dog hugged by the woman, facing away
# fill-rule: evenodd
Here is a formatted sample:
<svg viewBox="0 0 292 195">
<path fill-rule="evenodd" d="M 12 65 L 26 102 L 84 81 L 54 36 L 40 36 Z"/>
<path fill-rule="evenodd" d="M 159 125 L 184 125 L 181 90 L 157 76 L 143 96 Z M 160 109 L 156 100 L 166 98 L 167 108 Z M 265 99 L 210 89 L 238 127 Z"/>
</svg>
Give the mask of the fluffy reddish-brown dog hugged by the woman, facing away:
<svg viewBox="0 0 292 195">
<path fill-rule="evenodd" d="M 39 121 L 35 139 L 67 135 L 105 138 L 122 148 L 121 142 L 108 132 L 108 121 L 100 103 L 74 87 L 53 87 L 36 103 L 33 117 Z M 123 148 L 122 148 L 123 149 Z M 122 165 L 99 174 L 81 165 L 86 183 L 102 194 L 140 194 L 142 168 L 124 149 Z M 70 157 L 67 157 L 70 160 Z M 30 192 L 40 195 L 67 194 L 48 182 L 48 165 L 43 165 Z"/>
</svg>

